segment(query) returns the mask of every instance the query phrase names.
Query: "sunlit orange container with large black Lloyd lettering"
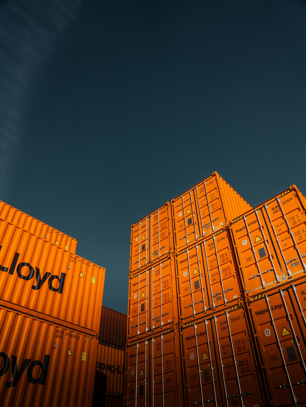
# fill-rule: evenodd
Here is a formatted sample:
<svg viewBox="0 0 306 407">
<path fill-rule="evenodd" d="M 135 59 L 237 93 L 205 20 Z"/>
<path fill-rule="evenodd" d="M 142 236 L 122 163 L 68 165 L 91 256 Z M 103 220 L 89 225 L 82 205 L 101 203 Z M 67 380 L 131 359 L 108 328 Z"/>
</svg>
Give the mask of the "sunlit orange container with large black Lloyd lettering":
<svg viewBox="0 0 306 407">
<path fill-rule="evenodd" d="M 98 335 L 105 269 L 0 221 L 0 300 Z"/>
</svg>

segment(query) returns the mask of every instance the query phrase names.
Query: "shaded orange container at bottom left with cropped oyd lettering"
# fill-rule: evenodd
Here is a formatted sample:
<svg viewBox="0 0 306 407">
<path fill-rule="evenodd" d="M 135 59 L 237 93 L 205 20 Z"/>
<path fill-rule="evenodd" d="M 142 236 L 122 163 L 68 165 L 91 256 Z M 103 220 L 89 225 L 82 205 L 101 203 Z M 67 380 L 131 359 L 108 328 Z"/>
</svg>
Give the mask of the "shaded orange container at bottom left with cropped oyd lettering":
<svg viewBox="0 0 306 407">
<path fill-rule="evenodd" d="M 98 338 L 0 308 L 1 407 L 91 407 Z"/>
</svg>

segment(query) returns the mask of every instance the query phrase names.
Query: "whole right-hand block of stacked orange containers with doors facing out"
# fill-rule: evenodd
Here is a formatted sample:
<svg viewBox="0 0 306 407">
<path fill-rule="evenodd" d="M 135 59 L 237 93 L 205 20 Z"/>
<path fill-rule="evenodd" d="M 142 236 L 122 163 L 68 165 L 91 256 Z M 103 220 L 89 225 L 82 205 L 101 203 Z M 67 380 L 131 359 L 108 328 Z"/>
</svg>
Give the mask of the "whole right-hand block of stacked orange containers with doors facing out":
<svg viewBox="0 0 306 407">
<path fill-rule="evenodd" d="M 251 208 L 217 173 L 173 199 L 173 248 L 151 249 L 171 261 L 167 295 L 170 274 L 146 253 L 158 236 L 144 233 L 152 214 L 132 225 L 126 407 L 306 405 L 305 202 L 292 186 Z M 154 318 L 164 315 L 154 313 L 155 286 L 162 305 L 173 290 L 169 350 L 162 326 L 155 336 Z"/>
</svg>

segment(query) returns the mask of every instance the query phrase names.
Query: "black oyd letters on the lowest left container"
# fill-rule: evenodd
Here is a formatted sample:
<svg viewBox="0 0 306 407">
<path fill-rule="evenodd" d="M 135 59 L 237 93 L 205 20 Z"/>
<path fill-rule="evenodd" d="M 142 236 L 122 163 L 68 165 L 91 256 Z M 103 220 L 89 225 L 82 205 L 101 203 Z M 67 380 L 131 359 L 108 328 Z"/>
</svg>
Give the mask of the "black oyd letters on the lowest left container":
<svg viewBox="0 0 306 407">
<path fill-rule="evenodd" d="M 31 361 L 31 359 L 24 359 L 24 361 L 21 363 L 21 365 L 19 365 L 19 367 L 17 356 L 12 355 L 11 361 L 11 359 L 6 353 L 0 352 L 0 358 L 2 358 L 3 361 L 3 363 L 0 362 L 0 366 L 2 366 L 2 368 L 0 369 L 0 377 L 9 372 L 9 370 L 11 370 L 11 373 L 9 374 L 9 376 L 11 376 L 11 381 L 7 381 L 7 383 L 5 383 L 5 387 L 15 387 L 26 369 L 27 369 L 27 378 L 30 383 L 34 384 L 39 383 L 41 385 L 44 385 L 46 381 L 50 355 L 44 355 L 43 362 L 39 360 Z M 11 369 L 9 369 L 10 365 Z M 36 368 L 36 366 L 40 368 L 39 376 L 38 376 L 39 369 Z M 35 370 L 34 375 L 33 370 Z"/>
</svg>

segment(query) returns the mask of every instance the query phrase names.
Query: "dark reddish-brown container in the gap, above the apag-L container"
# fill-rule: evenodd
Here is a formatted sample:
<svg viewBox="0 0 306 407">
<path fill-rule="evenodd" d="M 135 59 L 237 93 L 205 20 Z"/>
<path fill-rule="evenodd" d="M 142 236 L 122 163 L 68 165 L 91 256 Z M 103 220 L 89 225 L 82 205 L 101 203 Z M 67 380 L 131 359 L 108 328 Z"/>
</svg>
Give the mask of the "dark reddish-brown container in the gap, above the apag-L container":
<svg viewBox="0 0 306 407">
<path fill-rule="evenodd" d="M 125 314 L 102 306 L 99 341 L 124 349 L 126 319 Z"/>
</svg>

